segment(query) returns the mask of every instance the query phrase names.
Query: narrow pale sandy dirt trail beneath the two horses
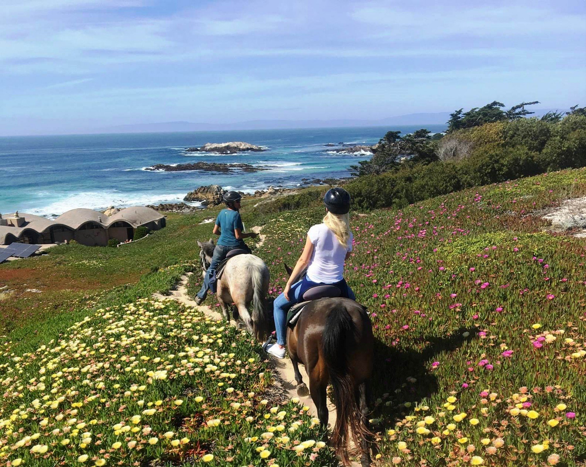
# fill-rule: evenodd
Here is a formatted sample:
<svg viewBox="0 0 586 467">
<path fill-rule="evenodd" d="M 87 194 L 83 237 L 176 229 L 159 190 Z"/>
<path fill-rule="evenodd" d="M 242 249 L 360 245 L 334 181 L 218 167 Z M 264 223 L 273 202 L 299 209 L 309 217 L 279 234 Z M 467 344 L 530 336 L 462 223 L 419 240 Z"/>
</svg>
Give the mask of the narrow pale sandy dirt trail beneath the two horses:
<svg viewBox="0 0 586 467">
<path fill-rule="evenodd" d="M 261 229 L 262 229 L 262 226 L 254 226 L 250 230 L 260 234 Z M 260 234 L 259 236 L 260 236 L 260 242 L 257 243 L 257 248 L 263 245 L 265 238 L 266 238 L 266 236 L 263 234 Z M 187 284 L 189 282 L 189 276 L 191 274 L 193 274 L 193 273 L 187 273 L 185 276 L 181 276 L 179 284 L 177 284 L 175 289 L 170 291 L 169 295 L 153 294 L 153 297 L 158 298 L 159 300 L 176 300 L 176 301 L 179 301 L 180 303 L 185 304 L 188 307 L 196 308 L 197 310 L 202 311 L 202 313 L 206 314 L 207 316 L 209 316 L 210 318 L 212 318 L 214 320 L 223 320 L 222 314 L 218 313 L 217 311 L 213 311 L 212 309 L 210 309 L 207 306 L 197 305 L 195 303 L 195 301 L 193 301 L 191 298 L 189 298 L 189 295 L 187 292 Z M 236 322 L 231 320 L 230 324 L 236 325 Z M 275 382 L 275 384 L 277 386 L 281 386 L 288 393 L 288 395 L 291 399 L 293 397 L 298 397 L 301 404 L 309 407 L 309 413 L 311 413 L 311 415 L 313 417 L 317 418 L 318 411 L 316 410 L 314 401 L 311 399 L 311 396 L 309 396 L 309 395 L 308 396 L 299 396 L 297 394 L 297 382 L 295 381 L 295 372 L 293 370 L 293 365 L 291 364 L 291 359 L 285 358 L 285 359 L 279 360 L 276 358 L 271 358 L 271 362 L 273 363 L 275 370 L 278 372 L 278 375 L 280 376 L 280 379 L 282 380 L 282 383 Z M 307 373 L 305 373 L 305 367 L 303 365 L 300 365 L 300 370 L 301 370 L 301 375 L 303 376 L 304 383 L 309 386 L 309 378 L 307 376 Z M 328 412 L 329 412 L 328 426 L 331 429 L 333 427 L 333 425 L 335 425 L 335 423 L 336 423 L 336 407 L 329 400 L 328 400 Z M 351 463 L 352 467 L 359 466 L 359 465 L 360 464 L 358 462 Z"/>
</svg>

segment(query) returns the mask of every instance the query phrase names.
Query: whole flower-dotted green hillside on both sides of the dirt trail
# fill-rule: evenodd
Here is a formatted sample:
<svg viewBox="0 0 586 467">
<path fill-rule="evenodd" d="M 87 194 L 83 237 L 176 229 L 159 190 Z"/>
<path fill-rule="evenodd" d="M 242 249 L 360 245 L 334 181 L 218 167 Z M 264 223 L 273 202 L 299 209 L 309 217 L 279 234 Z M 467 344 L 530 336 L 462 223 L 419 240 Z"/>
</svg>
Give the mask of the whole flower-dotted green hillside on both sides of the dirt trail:
<svg viewBox="0 0 586 467">
<path fill-rule="evenodd" d="M 586 241 L 544 232 L 541 219 L 570 193 L 586 195 L 586 170 L 403 210 L 353 212 L 346 276 L 377 338 L 379 465 L 584 462 Z M 250 208 L 246 224 L 265 224 L 257 254 L 271 269 L 275 295 L 286 281 L 282 263 L 297 260 L 323 210 L 258 215 Z M 208 465 L 333 465 L 331 451 L 312 443 L 319 432 L 302 408 L 264 395 L 270 369 L 258 345 L 192 310 L 142 300 L 194 267 L 195 239 L 211 231 L 198 223 L 209 214 L 169 217 L 163 231 L 116 250 L 63 246 L 0 266 L 0 286 L 16 290 L 0 302 L 14 328 L 0 351 L 1 458 L 148 465 L 162 456 L 165 465 L 200 465 L 209 454 Z M 23 291 L 32 287 L 43 292 Z M 23 320 L 29 324 L 21 327 Z M 198 406 L 197 396 L 209 405 Z"/>
</svg>

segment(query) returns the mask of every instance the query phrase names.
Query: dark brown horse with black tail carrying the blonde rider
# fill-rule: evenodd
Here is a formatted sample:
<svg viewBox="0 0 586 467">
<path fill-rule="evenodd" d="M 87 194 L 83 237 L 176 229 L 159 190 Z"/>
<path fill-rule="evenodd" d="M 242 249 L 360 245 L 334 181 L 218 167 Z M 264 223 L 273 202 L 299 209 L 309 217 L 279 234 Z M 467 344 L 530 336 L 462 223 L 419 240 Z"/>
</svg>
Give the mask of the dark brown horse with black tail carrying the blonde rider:
<svg viewBox="0 0 586 467">
<path fill-rule="evenodd" d="M 287 265 L 285 269 L 290 275 L 291 269 Z M 265 320 L 272 320 L 269 313 Z M 309 394 L 323 427 L 328 426 L 326 390 L 328 383 L 332 384 L 336 424 L 331 441 L 346 465 L 350 438 L 361 451 L 362 466 L 371 462 L 369 447 L 373 433 L 367 416 L 373 347 L 372 324 L 366 308 L 349 298 L 312 300 L 305 305 L 295 327 L 287 327 L 287 350 L 295 371 L 297 393 L 307 395 L 299 372 L 302 363 L 309 376 Z"/>
</svg>

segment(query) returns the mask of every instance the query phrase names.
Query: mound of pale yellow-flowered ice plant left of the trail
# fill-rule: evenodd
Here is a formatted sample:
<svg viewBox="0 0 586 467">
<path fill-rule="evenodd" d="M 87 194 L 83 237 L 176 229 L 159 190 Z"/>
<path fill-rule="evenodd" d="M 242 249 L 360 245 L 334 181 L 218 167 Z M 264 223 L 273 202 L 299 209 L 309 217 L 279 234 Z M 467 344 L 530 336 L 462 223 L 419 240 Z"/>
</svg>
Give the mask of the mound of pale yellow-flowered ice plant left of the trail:
<svg viewBox="0 0 586 467">
<path fill-rule="evenodd" d="M 22 355 L 6 342 L 0 465 L 330 465 L 308 407 L 263 399 L 262 360 L 168 300 L 100 308 Z"/>
</svg>

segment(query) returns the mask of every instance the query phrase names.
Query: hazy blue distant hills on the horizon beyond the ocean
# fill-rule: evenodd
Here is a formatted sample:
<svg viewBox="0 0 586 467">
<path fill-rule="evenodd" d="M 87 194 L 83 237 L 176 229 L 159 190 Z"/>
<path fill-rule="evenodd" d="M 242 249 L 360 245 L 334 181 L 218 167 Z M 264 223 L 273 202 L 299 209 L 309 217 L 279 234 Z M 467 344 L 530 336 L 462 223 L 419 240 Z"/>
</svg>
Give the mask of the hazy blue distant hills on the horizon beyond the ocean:
<svg viewBox="0 0 586 467">
<path fill-rule="evenodd" d="M 530 116 L 541 116 L 550 111 L 565 112 L 567 109 L 534 109 Z M 98 128 L 94 133 L 170 133 L 185 131 L 230 131 L 292 128 L 340 128 L 345 126 L 389 125 L 444 125 L 451 112 L 420 113 L 391 116 L 379 120 L 250 120 L 235 123 L 160 122 L 137 123 Z"/>
</svg>

